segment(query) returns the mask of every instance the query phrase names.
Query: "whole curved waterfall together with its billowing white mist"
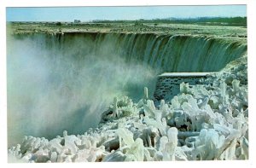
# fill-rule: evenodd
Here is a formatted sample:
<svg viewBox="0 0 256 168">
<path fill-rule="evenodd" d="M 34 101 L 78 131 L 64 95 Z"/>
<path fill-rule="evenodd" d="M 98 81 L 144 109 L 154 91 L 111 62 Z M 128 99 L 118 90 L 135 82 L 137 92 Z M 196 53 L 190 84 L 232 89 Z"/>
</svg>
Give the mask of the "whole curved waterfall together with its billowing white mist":
<svg viewBox="0 0 256 168">
<path fill-rule="evenodd" d="M 144 86 L 153 94 L 160 72 L 219 71 L 246 51 L 246 44 L 202 36 L 15 35 L 7 56 L 9 145 L 25 135 L 83 133 L 114 96 L 138 100 Z"/>
</svg>

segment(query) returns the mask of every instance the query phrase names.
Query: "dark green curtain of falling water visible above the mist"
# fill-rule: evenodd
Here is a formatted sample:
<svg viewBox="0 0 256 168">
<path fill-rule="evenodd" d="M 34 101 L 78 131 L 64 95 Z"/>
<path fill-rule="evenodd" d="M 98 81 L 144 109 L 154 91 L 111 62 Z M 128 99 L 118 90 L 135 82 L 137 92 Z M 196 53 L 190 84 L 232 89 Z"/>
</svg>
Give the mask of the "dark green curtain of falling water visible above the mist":
<svg viewBox="0 0 256 168">
<path fill-rule="evenodd" d="M 216 72 L 247 52 L 245 43 L 200 35 L 66 32 L 34 34 L 29 38 L 42 48 L 78 59 L 100 55 L 111 60 L 119 55 L 125 61 L 143 62 L 162 72 Z"/>
</svg>

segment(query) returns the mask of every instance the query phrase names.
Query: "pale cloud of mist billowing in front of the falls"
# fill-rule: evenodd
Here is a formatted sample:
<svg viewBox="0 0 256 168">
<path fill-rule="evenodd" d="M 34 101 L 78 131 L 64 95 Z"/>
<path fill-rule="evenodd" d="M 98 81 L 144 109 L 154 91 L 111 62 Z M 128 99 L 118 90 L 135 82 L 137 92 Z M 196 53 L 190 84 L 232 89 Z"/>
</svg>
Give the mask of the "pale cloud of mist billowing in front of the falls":
<svg viewBox="0 0 256 168">
<path fill-rule="evenodd" d="M 144 86 L 153 95 L 159 71 L 125 60 L 115 51 L 117 42 L 108 39 L 97 49 L 87 38 L 55 40 L 8 36 L 9 146 L 23 136 L 83 134 L 98 125 L 114 96 L 137 101 Z"/>
</svg>

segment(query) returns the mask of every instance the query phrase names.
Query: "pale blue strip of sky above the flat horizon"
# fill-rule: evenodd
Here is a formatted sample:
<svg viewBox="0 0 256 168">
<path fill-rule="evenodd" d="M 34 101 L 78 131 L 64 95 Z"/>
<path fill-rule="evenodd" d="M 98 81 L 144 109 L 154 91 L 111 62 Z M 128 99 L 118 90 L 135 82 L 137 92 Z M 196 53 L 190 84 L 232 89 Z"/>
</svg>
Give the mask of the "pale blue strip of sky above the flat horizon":
<svg viewBox="0 0 256 168">
<path fill-rule="evenodd" d="M 246 5 L 6 8 L 7 21 L 148 20 L 246 15 Z"/>
</svg>

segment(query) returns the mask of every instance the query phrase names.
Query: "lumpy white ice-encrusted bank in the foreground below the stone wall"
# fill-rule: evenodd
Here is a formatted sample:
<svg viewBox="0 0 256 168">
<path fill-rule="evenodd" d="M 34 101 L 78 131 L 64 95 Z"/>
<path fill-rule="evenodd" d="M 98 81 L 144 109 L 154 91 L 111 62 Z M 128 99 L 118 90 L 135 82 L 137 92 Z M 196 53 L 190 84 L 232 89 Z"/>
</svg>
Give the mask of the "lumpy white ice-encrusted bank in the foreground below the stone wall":
<svg viewBox="0 0 256 168">
<path fill-rule="evenodd" d="M 99 162 L 248 159 L 247 57 L 230 62 L 204 84 L 181 84 L 172 101 L 155 106 L 115 97 L 102 122 L 84 135 L 52 140 L 25 136 L 9 161 Z"/>
</svg>

